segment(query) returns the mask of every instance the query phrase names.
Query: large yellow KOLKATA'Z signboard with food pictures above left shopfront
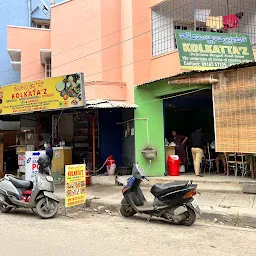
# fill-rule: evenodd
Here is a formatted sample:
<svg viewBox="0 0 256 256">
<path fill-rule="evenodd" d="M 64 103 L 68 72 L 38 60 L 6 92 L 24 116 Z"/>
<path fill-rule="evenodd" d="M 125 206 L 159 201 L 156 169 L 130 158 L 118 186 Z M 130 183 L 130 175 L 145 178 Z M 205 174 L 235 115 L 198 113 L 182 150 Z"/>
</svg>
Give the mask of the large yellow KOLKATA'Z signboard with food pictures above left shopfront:
<svg viewBox="0 0 256 256">
<path fill-rule="evenodd" d="M 0 87 L 0 115 L 84 105 L 82 73 Z"/>
</svg>

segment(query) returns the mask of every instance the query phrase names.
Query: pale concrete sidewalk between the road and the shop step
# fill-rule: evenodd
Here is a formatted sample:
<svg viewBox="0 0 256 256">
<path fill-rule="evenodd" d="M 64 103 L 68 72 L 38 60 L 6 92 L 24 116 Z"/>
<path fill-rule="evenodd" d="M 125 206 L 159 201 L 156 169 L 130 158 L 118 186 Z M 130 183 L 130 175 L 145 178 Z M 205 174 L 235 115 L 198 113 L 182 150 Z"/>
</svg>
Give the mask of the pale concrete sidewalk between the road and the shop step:
<svg viewBox="0 0 256 256">
<path fill-rule="evenodd" d="M 91 207 L 103 205 L 111 211 L 118 211 L 122 200 L 121 186 L 92 185 L 87 187 L 87 199 L 93 199 Z M 142 187 L 148 201 L 153 200 L 150 187 Z M 65 199 L 64 186 L 56 186 L 56 195 Z M 236 226 L 256 228 L 256 196 L 248 194 L 201 192 L 195 196 L 203 212 L 201 219 L 217 221 Z"/>
</svg>

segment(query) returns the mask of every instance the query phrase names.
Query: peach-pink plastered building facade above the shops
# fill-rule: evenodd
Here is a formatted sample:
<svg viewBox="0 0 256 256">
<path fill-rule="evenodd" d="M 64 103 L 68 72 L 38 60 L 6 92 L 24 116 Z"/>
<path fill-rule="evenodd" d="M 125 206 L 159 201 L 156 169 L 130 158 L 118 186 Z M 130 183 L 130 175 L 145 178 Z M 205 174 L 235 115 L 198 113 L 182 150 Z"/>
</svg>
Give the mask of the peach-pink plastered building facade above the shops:
<svg viewBox="0 0 256 256">
<path fill-rule="evenodd" d="M 21 82 L 45 78 L 48 69 L 50 76 L 83 72 L 87 99 L 132 103 L 135 85 L 181 72 L 176 50 L 152 57 L 151 7 L 158 2 L 70 0 L 53 5 L 50 30 L 8 26 L 13 67 L 21 71 Z"/>
</svg>

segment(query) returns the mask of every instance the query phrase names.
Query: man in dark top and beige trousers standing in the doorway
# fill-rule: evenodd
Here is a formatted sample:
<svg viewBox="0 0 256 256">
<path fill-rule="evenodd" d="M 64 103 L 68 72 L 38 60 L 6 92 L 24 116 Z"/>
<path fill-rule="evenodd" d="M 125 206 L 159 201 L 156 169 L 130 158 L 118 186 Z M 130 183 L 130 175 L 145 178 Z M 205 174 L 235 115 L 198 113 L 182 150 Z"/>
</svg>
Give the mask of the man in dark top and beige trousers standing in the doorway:
<svg viewBox="0 0 256 256">
<path fill-rule="evenodd" d="M 206 140 L 202 132 L 202 128 L 192 133 L 190 137 L 190 146 L 194 161 L 194 169 L 196 176 L 202 177 L 200 174 L 200 165 L 204 156 L 204 147 L 206 146 Z"/>
</svg>

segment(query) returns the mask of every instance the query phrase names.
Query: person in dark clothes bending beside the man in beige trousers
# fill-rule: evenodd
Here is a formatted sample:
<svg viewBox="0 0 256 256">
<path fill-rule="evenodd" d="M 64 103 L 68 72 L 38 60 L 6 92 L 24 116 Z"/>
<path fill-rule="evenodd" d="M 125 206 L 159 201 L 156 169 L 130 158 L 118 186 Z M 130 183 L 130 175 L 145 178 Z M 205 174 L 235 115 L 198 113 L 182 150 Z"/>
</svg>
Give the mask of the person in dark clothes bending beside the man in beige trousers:
<svg viewBox="0 0 256 256">
<path fill-rule="evenodd" d="M 175 154 L 179 156 L 181 165 L 187 165 L 187 155 L 185 144 L 188 141 L 188 137 L 178 134 L 176 131 L 172 131 L 171 141 L 175 143 Z"/>
</svg>

